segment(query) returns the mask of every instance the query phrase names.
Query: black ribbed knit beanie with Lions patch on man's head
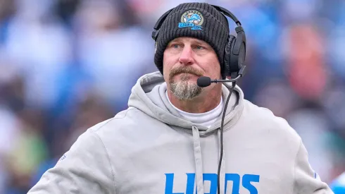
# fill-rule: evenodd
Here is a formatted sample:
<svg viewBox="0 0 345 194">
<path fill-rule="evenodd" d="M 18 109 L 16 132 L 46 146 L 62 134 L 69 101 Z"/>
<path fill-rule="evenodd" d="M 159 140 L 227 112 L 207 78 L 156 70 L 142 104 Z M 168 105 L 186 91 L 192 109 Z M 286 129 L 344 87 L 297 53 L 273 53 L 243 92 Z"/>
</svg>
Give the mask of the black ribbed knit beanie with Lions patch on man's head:
<svg viewBox="0 0 345 194">
<path fill-rule="evenodd" d="M 177 37 L 195 37 L 213 47 L 222 69 L 229 32 L 227 18 L 210 4 L 180 4 L 172 9 L 159 29 L 154 62 L 163 74 L 163 53 L 169 42 Z"/>
</svg>

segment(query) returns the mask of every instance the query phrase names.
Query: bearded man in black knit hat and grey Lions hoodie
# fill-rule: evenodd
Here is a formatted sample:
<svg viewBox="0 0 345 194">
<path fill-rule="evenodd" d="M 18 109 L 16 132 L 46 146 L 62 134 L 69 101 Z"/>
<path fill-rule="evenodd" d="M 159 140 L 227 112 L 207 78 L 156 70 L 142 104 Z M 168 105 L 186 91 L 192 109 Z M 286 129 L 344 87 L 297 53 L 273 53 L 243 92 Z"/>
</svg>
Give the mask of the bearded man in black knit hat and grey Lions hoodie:
<svg viewBox="0 0 345 194">
<path fill-rule="evenodd" d="M 209 4 L 173 8 L 156 40 L 160 72 L 139 78 L 129 108 L 80 135 L 29 193 L 332 193 L 294 129 L 237 86 L 221 133 L 230 90 L 197 79 L 223 78 L 228 26 Z"/>
</svg>

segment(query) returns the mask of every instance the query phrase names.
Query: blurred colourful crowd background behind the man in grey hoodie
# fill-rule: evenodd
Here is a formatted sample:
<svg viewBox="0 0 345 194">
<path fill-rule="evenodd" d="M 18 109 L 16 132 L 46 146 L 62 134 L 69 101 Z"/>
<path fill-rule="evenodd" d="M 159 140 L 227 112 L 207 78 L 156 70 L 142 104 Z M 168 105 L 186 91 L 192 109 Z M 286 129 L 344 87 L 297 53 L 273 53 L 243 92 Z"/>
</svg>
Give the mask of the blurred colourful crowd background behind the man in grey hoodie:
<svg viewBox="0 0 345 194">
<path fill-rule="evenodd" d="M 151 30 L 181 0 L 0 0 L 0 193 L 27 193 L 157 71 Z M 218 0 L 248 42 L 244 97 L 287 119 L 313 169 L 345 171 L 345 1 Z M 234 34 L 234 23 L 230 21 Z"/>
</svg>

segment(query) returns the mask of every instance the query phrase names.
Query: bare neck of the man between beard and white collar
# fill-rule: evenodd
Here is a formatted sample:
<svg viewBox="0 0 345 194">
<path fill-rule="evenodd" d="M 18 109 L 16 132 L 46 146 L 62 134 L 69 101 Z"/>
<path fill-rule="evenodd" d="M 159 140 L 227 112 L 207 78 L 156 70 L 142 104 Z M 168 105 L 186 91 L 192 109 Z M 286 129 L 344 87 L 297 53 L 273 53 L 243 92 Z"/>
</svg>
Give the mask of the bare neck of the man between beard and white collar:
<svg viewBox="0 0 345 194">
<path fill-rule="evenodd" d="M 220 88 L 221 90 L 221 88 Z M 201 94 L 192 100 L 180 100 L 168 90 L 168 97 L 170 102 L 182 111 L 189 113 L 203 113 L 215 109 L 220 103 L 222 93 L 218 91 L 211 91 L 207 95 Z"/>
</svg>

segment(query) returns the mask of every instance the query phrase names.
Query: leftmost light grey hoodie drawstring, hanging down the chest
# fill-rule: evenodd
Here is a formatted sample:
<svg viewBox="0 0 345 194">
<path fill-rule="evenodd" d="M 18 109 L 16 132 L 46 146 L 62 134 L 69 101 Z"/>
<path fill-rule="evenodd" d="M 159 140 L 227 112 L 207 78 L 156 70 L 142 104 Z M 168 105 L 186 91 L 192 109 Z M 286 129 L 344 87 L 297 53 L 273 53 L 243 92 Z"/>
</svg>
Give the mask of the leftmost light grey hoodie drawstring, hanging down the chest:
<svg viewBox="0 0 345 194">
<path fill-rule="evenodd" d="M 193 131 L 193 144 L 194 144 L 194 161 L 196 169 L 196 190 L 198 194 L 203 194 L 203 160 L 201 157 L 201 145 L 199 129 L 192 126 Z"/>
</svg>

